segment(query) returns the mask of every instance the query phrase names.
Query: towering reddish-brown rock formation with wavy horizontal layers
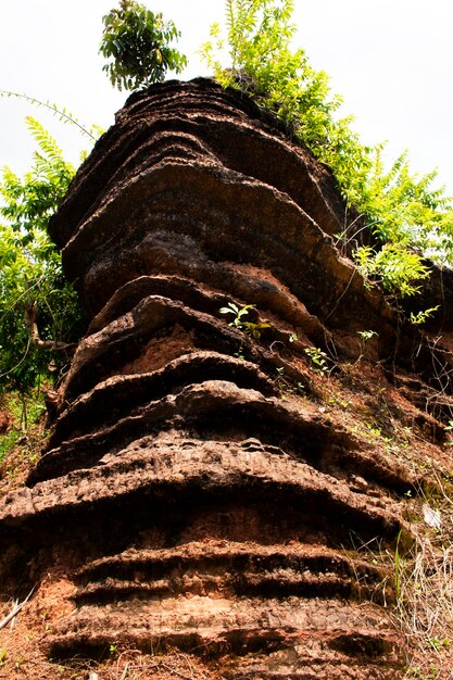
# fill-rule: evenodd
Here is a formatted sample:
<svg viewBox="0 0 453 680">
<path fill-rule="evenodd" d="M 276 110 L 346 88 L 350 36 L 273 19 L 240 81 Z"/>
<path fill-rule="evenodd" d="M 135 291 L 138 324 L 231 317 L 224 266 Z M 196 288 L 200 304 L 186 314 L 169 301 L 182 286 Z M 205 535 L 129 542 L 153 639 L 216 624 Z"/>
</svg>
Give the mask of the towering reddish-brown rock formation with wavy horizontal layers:
<svg viewBox="0 0 453 680">
<path fill-rule="evenodd" d="M 58 564 L 72 583 L 51 658 L 115 643 L 219 678 L 400 676 L 390 580 L 360 547 L 410 534 L 417 476 L 319 406 L 304 349 L 334 372 L 366 350 L 407 386 L 427 342 L 336 247 L 348 219 L 327 168 L 207 80 L 134 95 L 98 142 L 51 225 L 92 320 L 1 503 L 4 579 Z"/>
</svg>

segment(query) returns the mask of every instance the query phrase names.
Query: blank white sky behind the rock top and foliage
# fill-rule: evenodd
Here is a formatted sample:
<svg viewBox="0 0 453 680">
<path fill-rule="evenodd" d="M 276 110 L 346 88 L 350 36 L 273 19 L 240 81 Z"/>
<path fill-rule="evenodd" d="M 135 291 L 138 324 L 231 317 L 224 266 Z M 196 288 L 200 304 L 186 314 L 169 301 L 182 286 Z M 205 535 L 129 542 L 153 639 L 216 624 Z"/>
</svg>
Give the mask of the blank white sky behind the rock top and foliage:
<svg viewBox="0 0 453 680">
<path fill-rule="evenodd" d="M 143 0 L 142 0 L 143 1 Z M 113 90 L 98 47 L 102 16 L 115 0 L 0 0 L 0 89 L 50 100 L 86 124 L 108 127 L 127 92 Z M 189 58 L 184 77 L 207 75 L 196 54 L 224 0 L 144 0 L 173 18 Z M 414 172 L 439 168 L 453 194 L 452 0 L 295 0 L 298 41 L 331 76 L 344 113 L 367 143 L 389 140 L 391 156 L 408 148 Z M 77 159 L 84 140 L 43 110 L 0 99 L 0 165 L 29 166 L 24 124 L 34 115 Z"/>
</svg>

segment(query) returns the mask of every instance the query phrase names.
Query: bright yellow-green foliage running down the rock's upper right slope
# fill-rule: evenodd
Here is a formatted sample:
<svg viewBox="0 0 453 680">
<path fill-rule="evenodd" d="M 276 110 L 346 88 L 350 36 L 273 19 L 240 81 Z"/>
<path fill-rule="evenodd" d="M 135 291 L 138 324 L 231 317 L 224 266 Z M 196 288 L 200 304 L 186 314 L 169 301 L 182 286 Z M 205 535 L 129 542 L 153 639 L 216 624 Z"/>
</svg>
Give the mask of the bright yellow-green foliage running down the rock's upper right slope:
<svg viewBox="0 0 453 680">
<path fill-rule="evenodd" d="M 291 49 L 293 8 L 293 0 L 227 0 L 226 39 L 214 24 L 201 54 L 223 86 L 244 90 L 274 111 L 332 168 L 348 203 L 365 216 L 380 243 L 357 261 L 392 293 L 413 294 L 418 290 L 413 281 L 428 276 L 421 253 L 453 265 L 452 200 L 443 188 L 432 188 L 436 172 L 411 173 L 406 153 L 386 169 L 385 144 L 364 146 L 353 118 L 339 117 L 341 99 L 330 95 L 326 73 L 310 65 L 304 50 Z"/>
</svg>

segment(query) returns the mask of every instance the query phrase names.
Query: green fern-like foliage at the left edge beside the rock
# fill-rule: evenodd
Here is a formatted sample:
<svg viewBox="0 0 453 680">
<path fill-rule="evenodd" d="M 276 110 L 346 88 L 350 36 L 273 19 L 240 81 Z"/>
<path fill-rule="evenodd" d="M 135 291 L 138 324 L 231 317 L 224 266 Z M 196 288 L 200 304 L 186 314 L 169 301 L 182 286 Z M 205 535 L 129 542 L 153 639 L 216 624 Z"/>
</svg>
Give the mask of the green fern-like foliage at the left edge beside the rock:
<svg viewBox="0 0 453 680">
<path fill-rule="evenodd" d="M 34 347 L 24 322 L 37 308 L 41 338 L 71 342 L 81 314 L 73 288 L 64 280 L 61 257 L 47 235 L 50 216 L 66 192 L 74 167 L 42 126 L 27 118 L 38 142 L 32 169 L 18 177 L 9 167 L 0 184 L 0 392 L 27 391 L 43 375 L 62 366 L 49 348 Z"/>
</svg>

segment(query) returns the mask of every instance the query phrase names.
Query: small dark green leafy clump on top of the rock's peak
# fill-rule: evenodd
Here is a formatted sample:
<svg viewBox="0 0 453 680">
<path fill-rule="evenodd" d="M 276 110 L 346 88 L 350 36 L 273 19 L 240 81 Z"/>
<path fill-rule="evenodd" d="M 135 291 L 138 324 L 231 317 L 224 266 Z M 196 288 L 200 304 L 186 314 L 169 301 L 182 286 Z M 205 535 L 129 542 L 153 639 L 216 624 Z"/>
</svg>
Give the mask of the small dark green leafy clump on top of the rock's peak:
<svg viewBox="0 0 453 680">
<path fill-rule="evenodd" d="M 135 0 L 121 0 L 103 17 L 104 30 L 100 52 L 112 59 L 103 66 L 114 87 L 119 90 L 144 89 L 161 83 L 167 70 L 180 73 L 187 59 L 169 47 L 179 37 L 175 24 L 164 21 Z"/>
</svg>

